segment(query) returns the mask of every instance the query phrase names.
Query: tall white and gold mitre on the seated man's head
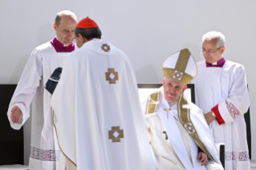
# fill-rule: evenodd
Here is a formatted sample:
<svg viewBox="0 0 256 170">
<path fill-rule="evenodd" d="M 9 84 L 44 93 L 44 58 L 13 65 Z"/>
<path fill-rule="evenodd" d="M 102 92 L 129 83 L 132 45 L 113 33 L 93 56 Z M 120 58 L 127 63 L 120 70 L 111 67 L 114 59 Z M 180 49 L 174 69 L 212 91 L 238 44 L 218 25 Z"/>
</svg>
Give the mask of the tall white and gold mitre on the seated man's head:
<svg viewBox="0 0 256 170">
<path fill-rule="evenodd" d="M 165 79 L 175 79 L 187 84 L 197 75 L 197 64 L 190 51 L 185 48 L 165 59 L 163 70 Z"/>
</svg>

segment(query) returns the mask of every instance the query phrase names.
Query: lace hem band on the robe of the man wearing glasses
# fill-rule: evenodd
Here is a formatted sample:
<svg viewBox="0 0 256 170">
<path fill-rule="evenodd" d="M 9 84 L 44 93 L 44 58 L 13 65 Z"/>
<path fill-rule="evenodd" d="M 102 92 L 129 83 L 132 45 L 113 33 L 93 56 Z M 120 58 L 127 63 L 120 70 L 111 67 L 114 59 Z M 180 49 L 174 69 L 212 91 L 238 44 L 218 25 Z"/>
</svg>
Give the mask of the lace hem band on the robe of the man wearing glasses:
<svg viewBox="0 0 256 170">
<path fill-rule="evenodd" d="M 241 151 L 241 152 L 225 152 L 225 160 L 226 161 L 249 161 L 249 152 L 248 151 Z"/>
</svg>

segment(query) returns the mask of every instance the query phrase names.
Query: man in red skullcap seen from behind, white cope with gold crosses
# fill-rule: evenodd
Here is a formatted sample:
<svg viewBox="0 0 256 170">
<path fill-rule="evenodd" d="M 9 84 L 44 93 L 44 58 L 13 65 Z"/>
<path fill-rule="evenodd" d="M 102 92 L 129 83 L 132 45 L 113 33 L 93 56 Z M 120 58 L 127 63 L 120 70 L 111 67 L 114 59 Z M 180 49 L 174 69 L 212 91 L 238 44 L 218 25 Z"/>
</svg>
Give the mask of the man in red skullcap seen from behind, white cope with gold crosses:
<svg viewBox="0 0 256 170">
<path fill-rule="evenodd" d="M 60 169 L 156 169 L 141 115 L 132 64 L 101 40 L 99 26 L 83 18 L 51 99 L 63 152 Z"/>
</svg>

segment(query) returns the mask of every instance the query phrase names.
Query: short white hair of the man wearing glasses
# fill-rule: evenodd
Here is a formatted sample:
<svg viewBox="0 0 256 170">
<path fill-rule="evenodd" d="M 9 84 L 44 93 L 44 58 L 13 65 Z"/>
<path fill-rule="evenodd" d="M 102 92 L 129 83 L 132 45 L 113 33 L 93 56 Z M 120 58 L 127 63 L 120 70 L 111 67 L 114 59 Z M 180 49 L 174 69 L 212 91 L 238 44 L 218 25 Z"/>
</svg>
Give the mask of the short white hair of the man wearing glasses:
<svg viewBox="0 0 256 170">
<path fill-rule="evenodd" d="M 211 39 L 217 39 L 217 48 L 225 47 L 225 36 L 221 32 L 209 31 L 203 35 L 202 42 L 205 42 L 205 40 L 209 41 Z"/>
</svg>

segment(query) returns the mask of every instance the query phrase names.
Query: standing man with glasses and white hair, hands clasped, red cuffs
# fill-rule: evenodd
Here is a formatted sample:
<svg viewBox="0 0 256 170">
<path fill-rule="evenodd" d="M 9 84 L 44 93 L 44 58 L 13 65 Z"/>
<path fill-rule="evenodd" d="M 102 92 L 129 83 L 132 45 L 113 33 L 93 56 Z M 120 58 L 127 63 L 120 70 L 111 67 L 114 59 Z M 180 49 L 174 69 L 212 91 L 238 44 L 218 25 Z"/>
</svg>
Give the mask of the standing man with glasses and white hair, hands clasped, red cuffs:
<svg viewBox="0 0 256 170">
<path fill-rule="evenodd" d="M 225 36 L 211 31 L 203 35 L 201 52 L 205 61 L 197 63 L 196 104 L 217 143 L 225 143 L 225 169 L 250 169 L 244 114 L 249 108 L 246 70 L 226 60 Z"/>
</svg>

